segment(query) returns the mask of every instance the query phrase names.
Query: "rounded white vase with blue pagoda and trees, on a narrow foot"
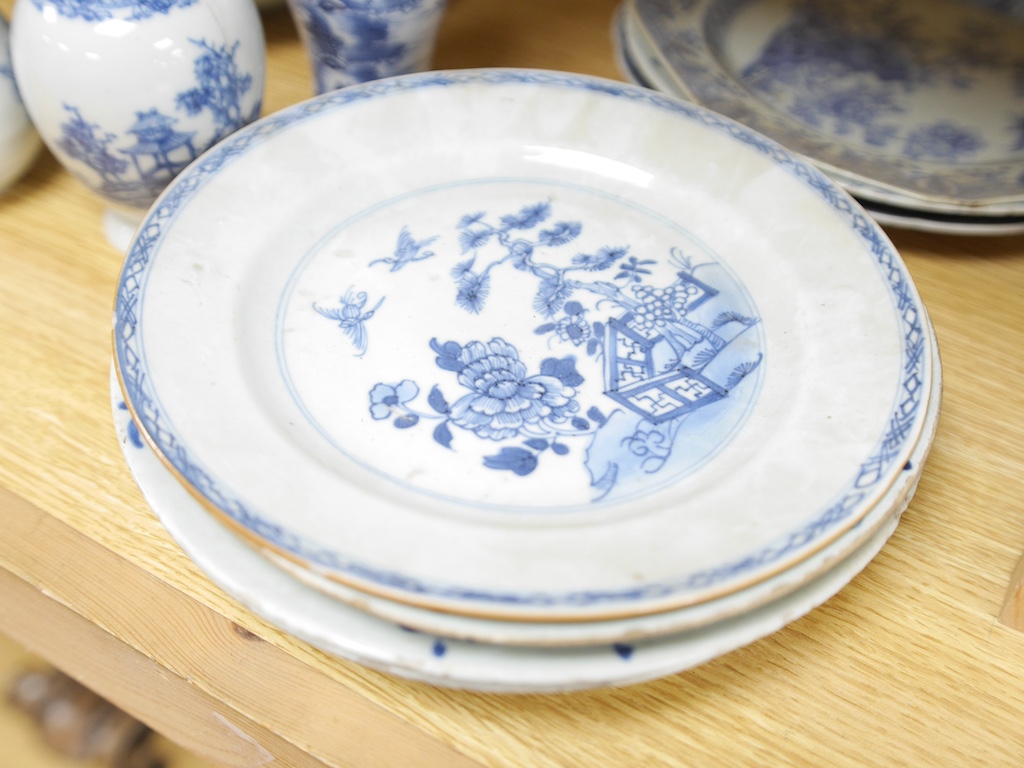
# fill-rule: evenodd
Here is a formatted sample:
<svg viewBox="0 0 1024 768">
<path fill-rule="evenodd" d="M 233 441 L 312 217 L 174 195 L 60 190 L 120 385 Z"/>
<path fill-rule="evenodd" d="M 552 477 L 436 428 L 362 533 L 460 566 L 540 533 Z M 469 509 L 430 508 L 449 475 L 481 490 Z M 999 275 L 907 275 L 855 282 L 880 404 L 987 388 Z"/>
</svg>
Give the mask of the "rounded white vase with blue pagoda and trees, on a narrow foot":
<svg viewBox="0 0 1024 768">
<path fill-rule="evenodd" d="M 118 245 L 185 166 L 259 117 L 253 0 L 17 0 L 10 46 L 43 141 L 108 202 Z"/>
</svg>

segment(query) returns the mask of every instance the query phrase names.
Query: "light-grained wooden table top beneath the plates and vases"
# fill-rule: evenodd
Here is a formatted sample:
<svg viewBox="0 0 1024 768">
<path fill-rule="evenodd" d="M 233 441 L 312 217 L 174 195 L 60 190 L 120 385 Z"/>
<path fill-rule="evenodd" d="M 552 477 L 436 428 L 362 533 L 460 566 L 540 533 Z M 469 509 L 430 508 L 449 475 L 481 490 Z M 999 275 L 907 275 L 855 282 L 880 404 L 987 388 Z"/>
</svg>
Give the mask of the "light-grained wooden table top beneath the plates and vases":
<svg viewBox="0 0 1024 768">
<path fill-rule="evenodd" d="M 620 78 L 616 1 L 452 0 L 436 65 Z M 270 112 L 312 91 L 287 12 L 265 27 Z M 1024 634 L 998 621 L 1024 550 L 1024 237 L 891 231 L 932 313 L 945 400 L 918 496 L 849 587 L 668 679 L 503 696 L 330 657 L 241 607 L 175 546 L 112 428 L 121 255 L 101 210 L 45 154 L 0 200 L 0 632 L 158 730 L 230 766 L 1024 760 Z"/>
</svg>

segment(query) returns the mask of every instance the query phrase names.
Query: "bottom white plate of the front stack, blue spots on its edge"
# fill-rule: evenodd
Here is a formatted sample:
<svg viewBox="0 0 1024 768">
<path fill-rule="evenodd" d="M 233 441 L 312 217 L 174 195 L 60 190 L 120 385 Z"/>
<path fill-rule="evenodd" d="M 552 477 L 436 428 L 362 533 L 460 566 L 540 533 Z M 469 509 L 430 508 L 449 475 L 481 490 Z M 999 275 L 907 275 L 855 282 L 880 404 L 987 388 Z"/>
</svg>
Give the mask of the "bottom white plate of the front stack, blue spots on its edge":
<svg viewBox="0 0 1024 768">
<path fill-rule="evenodd" d="M 897 507 L 857 550 L 781 599 L 670 637 L 589 647 L 530 648 L 463 642 L 402 628 L 291 579 L 240 541 L 161 465 L 128 415 L 112 373 L 118 439 L 146 501 L 188 556 L 227 594 L 270 624 L 328 653 L 439 686 L 554 693 L 640 683 L 696 667 L 771 634 L 845 587 L 885 545 Z"/>
</svg>

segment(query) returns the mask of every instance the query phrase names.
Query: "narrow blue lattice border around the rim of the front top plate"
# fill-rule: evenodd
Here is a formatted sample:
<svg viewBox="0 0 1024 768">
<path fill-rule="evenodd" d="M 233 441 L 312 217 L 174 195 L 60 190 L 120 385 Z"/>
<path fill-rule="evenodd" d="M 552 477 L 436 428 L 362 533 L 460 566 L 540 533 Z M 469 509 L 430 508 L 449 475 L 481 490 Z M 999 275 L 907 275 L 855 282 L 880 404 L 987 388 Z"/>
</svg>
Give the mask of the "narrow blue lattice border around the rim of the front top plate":
<svg viewBox="0 0 1024 768">
<path fill-rule="evenodd" d="M 324 112 L 347 104 L 386 96 L 396 91 L 467 84 L 521 84 L 554 86 L 593 91 L 629 101 L 642 102 L 689 118 L 700 125 L 724 131 L 734 139 L 767 156 L 793 176 L 810 187 L 823 202 L 842 216 L 859 236 L 878 262 L 892 293 L 903 330 L 903 373 L 901 393 L 888 420 L 874 453 L 860 466 L 857 476 L 842 497 L 820 515 L 798 530 L 792 531 L 775 545 L 764 547 L 742 559 L 724 565 L 691 572 L 671 583 L 647 584 L 632 589 L 567 593 L 510 593 L 478 590 L 471 587 L 427 583 L 400 572 L 371 567 L 338 552 L 325 549 L 281 525 L 268 522 L 250 510 L 230 489 L 217 485 L 211 474 L 197 463 L 156 404 L 152 393 L 137 335 L 141 294 L 147 270 L 159 251 L 167 228 L 176 214 L 226 164 L 290 126 Z M 788 553 L 821 539 L 849 518 L 861 501 L 885 479 L 893 462 L 907 447 L 922 411 L 924 383 L 927 379 L 927 333 L 923 311 L 918 305 L 914 289 L 905 266 L 888 239 L 859 206 L 831 180 L 772 139 L 741 126 L 703 108 L 626 83 L 602 80 L 585 75 L 571 75 L 541 70 L 469 70 L 432 72 L 374 81 L 316 96 L 281 113 L 263 118 L 232 134 L 201 156 L 178 176 L 154 204 L 138 229 L 128 252 L 118 284 L 115 307 L 114 346 L 116 365 L 122 386 L 140 427 L 158 452 L 168 461 L 194 492 L 227 515 L 239 525 L 261 540 L 321 568 L 343 573 L 351 579 L 396 590 L 440 599 L 483 602 L 493 605 L 519 607 L 589 607 L 610 603 L 656 600 L 694 590 L 709 589 L 729 579 L 773 562 Z"/>
</svg>

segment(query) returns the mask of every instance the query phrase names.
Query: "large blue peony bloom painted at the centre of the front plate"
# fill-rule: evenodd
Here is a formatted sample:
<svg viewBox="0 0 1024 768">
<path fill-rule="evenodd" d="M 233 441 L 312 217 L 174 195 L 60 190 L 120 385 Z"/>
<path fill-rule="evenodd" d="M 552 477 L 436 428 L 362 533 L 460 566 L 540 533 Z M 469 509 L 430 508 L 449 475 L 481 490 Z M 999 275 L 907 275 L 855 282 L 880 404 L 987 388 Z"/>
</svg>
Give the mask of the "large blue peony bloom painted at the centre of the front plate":
<svg viewBox="0 0 1024 768">
<path fill-rule="evenodd" d="M 479 437 L 515 437 L 528 424 L 562 421 L 580 409 L 575 389 L 556 375 L 527 376 L 518 351 L 504 339 L 472 341 L 460 360 L 459 382 L 470 391 L 452 406 L 451 420 Z"/>
</svg>

